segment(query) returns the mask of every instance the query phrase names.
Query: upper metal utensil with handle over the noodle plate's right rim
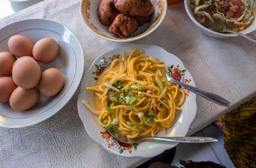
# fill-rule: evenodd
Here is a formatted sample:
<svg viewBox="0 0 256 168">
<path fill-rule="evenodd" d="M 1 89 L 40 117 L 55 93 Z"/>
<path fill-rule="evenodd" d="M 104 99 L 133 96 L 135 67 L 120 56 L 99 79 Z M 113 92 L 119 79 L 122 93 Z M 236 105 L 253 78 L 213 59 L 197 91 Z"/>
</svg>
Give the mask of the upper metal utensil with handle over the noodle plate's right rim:
<svg viewBox="0 0 256 168">
<path fill-rule="evenodd" d="M 215 104 L 218 104 L 220 106 L 225 106 L 225 107 L 228 107 L 230 105 L 230 102 L 228 100 L 226 100 L 216 94 L 213 94 L 213 93 L 204 91 L 202 89 L 187 85 L 183 82 L 174 80 L 171 77 L 169 77 L 168 73 L 165 73 L 165 75 L 166 75 L 166 78 L 168 81 L 178 84 L 179 86 L 182 86 L 182 87 L 190 90 L 191 92 L 195 93 L 196 95 L 199 95 L 199 96 L 203 97 L 204 99 L 209 100 L 210 102 L 213 102 Z"/>
</svg>

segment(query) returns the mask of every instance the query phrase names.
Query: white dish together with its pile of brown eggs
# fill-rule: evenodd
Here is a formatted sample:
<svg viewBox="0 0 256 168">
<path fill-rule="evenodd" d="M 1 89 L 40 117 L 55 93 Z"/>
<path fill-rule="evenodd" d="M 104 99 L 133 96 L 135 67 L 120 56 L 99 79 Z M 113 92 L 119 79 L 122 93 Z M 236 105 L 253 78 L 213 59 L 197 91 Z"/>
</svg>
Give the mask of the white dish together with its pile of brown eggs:
<svg viewBox="0 0 256 168">
<path fill-rule="evenodd" d="M 83 74 L 83 53 L 63 25 L 29 19 L 0 29 L 0 126 L 20 128 L 58 112 Z"/>
</svg>

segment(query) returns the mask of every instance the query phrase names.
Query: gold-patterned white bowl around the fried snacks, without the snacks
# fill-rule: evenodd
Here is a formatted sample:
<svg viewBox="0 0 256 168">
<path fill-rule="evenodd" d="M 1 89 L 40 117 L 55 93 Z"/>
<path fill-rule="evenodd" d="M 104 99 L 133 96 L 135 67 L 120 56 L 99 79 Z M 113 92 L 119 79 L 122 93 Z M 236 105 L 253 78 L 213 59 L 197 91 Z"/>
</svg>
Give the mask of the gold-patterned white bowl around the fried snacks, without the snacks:
<svg viewBox="0 0 256 168">
<path fill-rule="evenodd" d="M 163 21 L 167 10 L 166 0 L 151 0 L 154 6 L 153 18 L 149 23 L 140 26 L 128 38 L 118 38 L 112 33 L 108 32 L 108 27 L 102 25 L 97 16 L 98 4 L 101 0 L 81 0 L 80 13 L 82 20 L 89 27 L 89 29 L 99 37 L 107 40 L 117 42 L 128 42 L 138 40 L 152 33 Z"/>
</svg>

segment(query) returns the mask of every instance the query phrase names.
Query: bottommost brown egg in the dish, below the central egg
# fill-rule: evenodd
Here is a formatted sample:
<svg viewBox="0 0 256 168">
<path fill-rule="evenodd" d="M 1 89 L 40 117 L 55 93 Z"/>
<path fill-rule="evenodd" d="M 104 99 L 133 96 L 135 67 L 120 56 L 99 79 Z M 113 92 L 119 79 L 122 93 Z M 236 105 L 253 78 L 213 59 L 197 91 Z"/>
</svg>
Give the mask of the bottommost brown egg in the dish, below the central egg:
<svg viewBox="0 0 256 168">
<path fill-rule="evenodd" d="M 17 87 L 10 95 L 10 107 L 16 111 L 31 108 L 38 101 L 40 93 L 36 88 L 22 89 Z"/>
</svg>

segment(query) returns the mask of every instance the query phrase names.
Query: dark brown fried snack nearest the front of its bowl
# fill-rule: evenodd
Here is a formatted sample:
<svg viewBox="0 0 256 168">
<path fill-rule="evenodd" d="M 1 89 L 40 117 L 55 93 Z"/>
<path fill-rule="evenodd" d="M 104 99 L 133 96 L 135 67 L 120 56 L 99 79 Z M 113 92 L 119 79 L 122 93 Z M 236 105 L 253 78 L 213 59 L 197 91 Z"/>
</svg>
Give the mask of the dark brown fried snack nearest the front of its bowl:
<svg viewBox="0 0 256 168">
<path fill-rule="evenodd" d="M 138 23 L 134 18 L 120 13 L 114 18 L 114 21 L 108 28 L 108 31 L 121 38 L 126 38 L 136 31 L 137 28 Z"/>
</svg>

